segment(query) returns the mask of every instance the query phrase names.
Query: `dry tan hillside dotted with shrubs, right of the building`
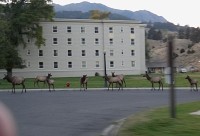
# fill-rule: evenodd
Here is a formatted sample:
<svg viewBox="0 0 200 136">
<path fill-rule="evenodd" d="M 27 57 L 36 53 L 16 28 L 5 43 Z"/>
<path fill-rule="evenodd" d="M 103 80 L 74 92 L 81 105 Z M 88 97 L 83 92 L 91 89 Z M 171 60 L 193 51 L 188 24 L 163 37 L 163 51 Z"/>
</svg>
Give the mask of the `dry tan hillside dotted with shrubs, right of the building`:
<svg viewBox="0 0 200 136">
<path fill-rule="evenodd" d="M 150 61 L 167 62 L 167 43 L 156 40 L 147 40 L 150 51 Z M 200 43 L 192 45 L 192 42 L 187 39 L 174 40 L 174 53 L 176 58 L 174 63 L 180 67 L 198 67 L 200 68 Z"/>
</svg>

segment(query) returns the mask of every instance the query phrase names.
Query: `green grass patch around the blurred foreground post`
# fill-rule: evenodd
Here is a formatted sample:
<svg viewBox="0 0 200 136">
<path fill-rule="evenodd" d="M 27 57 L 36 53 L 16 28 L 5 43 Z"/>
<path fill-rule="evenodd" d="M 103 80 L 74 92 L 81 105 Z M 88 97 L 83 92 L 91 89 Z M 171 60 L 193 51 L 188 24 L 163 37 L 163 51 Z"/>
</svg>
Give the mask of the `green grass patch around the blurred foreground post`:
<svg viewBox="0 0 200 136">
<path fill-rule="evenodd" d="M 177 106 L 177 118 L 169 116 L 169 108 L 159 108 L 130 116 L 117 136 L 199 136 L 200 116 L 189 113 L 198 111 L 200 102 Z"/>
</svg>

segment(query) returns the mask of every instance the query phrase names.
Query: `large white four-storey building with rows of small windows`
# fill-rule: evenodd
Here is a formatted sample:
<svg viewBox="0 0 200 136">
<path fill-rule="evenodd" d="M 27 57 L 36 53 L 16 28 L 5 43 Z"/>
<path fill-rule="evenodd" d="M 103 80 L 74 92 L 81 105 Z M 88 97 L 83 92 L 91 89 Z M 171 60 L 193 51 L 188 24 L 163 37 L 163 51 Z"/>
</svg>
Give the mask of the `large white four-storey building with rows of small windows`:
<svg viewBox="0 0 200 136">
<path fill-rule="evenodd" d="M 46 46 L 19 48 L 26 68 L 13 75 L 94 76 L 145 73 L 145 26 L 133 20 L 55 19 L 41 22 Z M 104 56 L 105 53 L 105 56 Z"/>
</svg>

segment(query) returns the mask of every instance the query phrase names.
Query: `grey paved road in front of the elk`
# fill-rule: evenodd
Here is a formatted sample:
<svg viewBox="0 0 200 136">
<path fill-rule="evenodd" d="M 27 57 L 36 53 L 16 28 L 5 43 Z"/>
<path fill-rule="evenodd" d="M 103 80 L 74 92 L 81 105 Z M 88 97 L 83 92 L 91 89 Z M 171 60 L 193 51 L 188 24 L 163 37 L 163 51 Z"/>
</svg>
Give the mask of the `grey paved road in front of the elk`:
<svg viewBox="0 0 200 136">
<path fill-rule="evenodd" d="M 200 100 L 200 92 L 177 90 L 177 103 Z M 167 106 L 169 93 L 150 90 L 0 92 L 13 112 L 19 136 L 99 136 L 116 120 Z"/>
</svg>

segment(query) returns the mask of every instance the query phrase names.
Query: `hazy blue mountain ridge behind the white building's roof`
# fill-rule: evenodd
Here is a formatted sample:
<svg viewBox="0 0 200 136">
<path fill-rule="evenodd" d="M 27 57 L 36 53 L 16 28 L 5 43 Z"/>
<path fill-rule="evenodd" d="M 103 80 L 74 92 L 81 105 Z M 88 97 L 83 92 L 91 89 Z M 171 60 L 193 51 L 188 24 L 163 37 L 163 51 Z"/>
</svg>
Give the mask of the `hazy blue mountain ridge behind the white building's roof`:
<svg viewBox="0 0 200 136">
<path fill-rule="evenodd" d="M 106 5 L 100 4 L 100 3 L 90 3 L 90 2 L 81 2 L 81 3 L 72 3 L 68 5 L 58 5 L 53 4 L 54 10 L 56 13 L 60 13 L 63 11 L 81 11 L 84 13 L 89 12 L 90 10 L 100 10 L 100 11 L 108 11 L 112 14 L 118 14 L 121 16 L 124 16 L 126 18 L 132 19 L 132 20 L 138 20 L 141 22 L 162 22 L 166 23 L 168 22 L 164 17 L 158 16 L 152 12 L 149 12 L 147 10 L 139 10 L 139 11 L 130 11 L 130 10 L 119 10 L 107 7 Z M 82 17 L 81 17 L 82 18 Z"/>
</svg>

